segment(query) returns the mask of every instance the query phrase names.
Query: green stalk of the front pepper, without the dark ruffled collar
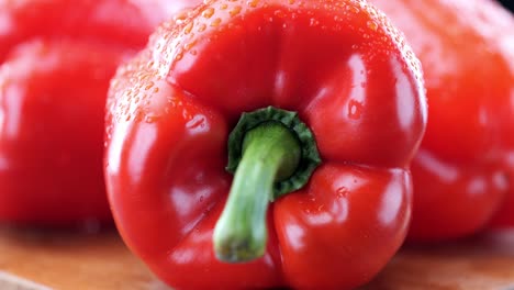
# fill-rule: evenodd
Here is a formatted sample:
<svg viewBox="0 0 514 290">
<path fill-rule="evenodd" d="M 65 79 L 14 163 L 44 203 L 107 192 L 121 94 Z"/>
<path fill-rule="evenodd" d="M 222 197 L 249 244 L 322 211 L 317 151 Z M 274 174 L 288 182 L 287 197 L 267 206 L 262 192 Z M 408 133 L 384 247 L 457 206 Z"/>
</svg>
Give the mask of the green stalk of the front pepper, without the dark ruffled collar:
<svg viewBox="0 0 514 290">
<path fill-rule="evenodd" d="M 265 122 L 246 132 L 228 200 L 214 228 L 220 260 L 241 263 L 264 255 L 273 187 L 294 174 L 301 156 L 295 134 L 279 122 Z"/>
</svg>

